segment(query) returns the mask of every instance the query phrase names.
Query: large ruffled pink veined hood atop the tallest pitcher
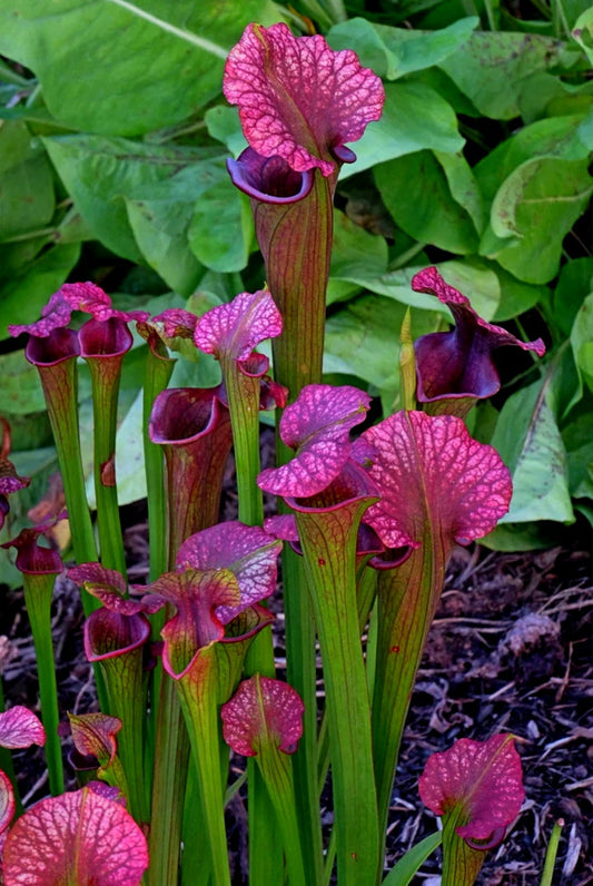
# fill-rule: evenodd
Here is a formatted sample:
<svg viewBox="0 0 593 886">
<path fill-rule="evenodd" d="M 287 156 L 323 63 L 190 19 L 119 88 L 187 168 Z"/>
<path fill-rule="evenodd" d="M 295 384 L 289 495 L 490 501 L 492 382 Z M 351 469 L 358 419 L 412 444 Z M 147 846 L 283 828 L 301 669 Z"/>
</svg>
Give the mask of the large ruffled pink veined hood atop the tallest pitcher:
<svg viewBox="0 0 593 886">
<path fill-rule="evenodd" d="M 355 52 L 336 52 L 318 35 L 294 37 L 284 23 L 247 26 L 228 56 L 223 88 L 239 107 L 250 148 L 324 176 L 334 173 L 343 146 L 380 117 L 385 99 L 380 79 Z"/>
</svg>

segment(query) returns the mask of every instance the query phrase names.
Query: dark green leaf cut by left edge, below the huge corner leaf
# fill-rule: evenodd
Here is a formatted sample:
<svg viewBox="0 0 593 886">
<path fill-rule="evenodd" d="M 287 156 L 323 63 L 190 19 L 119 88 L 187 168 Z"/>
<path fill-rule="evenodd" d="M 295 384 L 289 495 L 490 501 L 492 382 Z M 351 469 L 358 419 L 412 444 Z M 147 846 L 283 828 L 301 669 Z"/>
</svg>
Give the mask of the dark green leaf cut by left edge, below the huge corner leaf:
<svg viewBox="0 0 593 886">
<path fill-rule="evenodd" d="M 39 139 L 21 121 L 0 125 L 0 240 L 51 220 L 51 166 Z"/>
</svg>

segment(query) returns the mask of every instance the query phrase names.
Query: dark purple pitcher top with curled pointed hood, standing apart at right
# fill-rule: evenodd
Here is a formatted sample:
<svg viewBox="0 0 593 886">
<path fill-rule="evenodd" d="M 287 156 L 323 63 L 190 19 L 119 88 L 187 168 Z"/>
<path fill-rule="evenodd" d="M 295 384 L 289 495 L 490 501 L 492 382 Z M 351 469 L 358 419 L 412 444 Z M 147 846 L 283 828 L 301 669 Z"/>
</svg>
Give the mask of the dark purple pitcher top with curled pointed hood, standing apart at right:
<svg viewBox="0 0 593 886">
<path fill-rule="evenodd" d="M 455 328 L 447 333 L 428 333 L 415 343 L 417 398 L 432 404 L 433 412 L 451 412 L 463 417 L 476 400 L 490 397 L 501 387 L 493 353 L 514 345 L 545 353 L 541 338 L 522 342 L 512 333 L 482 319 L 467 296 L 449 286 L 435 267 L 421 270 L 412 279 L 418 293 L 436 295 L 447 305 Z"/>
</svg>

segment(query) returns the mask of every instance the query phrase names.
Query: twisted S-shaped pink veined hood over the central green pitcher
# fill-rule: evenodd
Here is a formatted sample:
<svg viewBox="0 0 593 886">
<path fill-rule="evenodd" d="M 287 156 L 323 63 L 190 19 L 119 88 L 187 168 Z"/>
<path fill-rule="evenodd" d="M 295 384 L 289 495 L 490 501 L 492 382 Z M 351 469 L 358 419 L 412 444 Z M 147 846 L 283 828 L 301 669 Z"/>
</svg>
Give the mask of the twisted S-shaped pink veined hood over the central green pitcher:
<svg viewBox="0 0 593 886">
<path fill-rule="evenodd" d="M 345 467 L 350 429 L 364 422 L 369 405 L 368 394 L 350 385 L 306 385 L 280 420 L 280 437 L 296 455 L 261 471 L 259 486 L 285 498 L 322 492 Z"/>
</svg>

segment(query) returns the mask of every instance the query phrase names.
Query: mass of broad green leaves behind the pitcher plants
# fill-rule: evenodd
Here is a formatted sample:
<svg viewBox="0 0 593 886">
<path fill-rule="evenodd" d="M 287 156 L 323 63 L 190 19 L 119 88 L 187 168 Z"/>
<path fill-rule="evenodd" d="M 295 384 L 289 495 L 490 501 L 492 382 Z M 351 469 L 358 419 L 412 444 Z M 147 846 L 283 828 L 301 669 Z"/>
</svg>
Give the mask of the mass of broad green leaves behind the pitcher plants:
<svg viewBox="0 0 593 886">
<path fill-rule="evenodd" d="M 67 279 L 91 278 L 120 306 L 155 313 L 201 314 L 261 286 L 249 206 L 225 168 L 245 142 L 220 88 L 244 27 L 281 19 L 297 32 L 313 21 L 386 86 L 383 119 L 338 184 L 328 380 L 397 407 L 405 307 L 415 337 L 448 323 L 434 297 L 409 288 L 436 264 L 486 319 L 548 346 L 541 361 L 503 351 L 503 391 L 468 420 L 515 485 L 486 543 L 542 547 L 577 514 L 593 523 L 593 8 L 0 0 L 0 412 L 12 460 L 33 476 L 10 534 L 57 463 L 36 371 L 9 323 L 36 319 Z M 123 502 L 144 494 L 144 347 L 138 339 L 123 374 Z M 83 367 L 81 376 L 87 400 Z M 217 380 L 216 364 L 187 350 L 171 384 Z M 86 435 L 89 424 L 90 414 Z"/>
</svg>

